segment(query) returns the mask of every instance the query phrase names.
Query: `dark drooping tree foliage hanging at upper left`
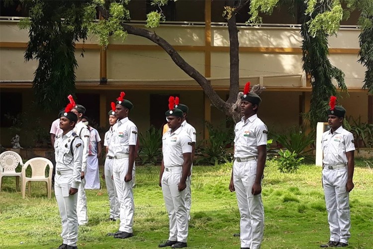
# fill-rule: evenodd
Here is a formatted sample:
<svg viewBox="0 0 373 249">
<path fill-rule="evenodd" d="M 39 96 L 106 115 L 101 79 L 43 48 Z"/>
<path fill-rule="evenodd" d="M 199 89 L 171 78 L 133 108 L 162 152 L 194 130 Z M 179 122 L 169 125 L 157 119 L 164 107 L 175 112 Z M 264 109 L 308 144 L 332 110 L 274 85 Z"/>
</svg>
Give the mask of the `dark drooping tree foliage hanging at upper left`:
<svg viewBox="0 0 373 249">
<path fill-rule="evenodd" d="M 33 81 L 38 104 L 44 110 L 59 109 L 75 92 L 75 42 L 85 40 L 88 32 L 83 26 L 84 2 L 30 2 L 30 41 L 24 58 L 39 61 Z M 25 22 L 21 22 L 22 28 L 27 27 Z"/>
</svg>

